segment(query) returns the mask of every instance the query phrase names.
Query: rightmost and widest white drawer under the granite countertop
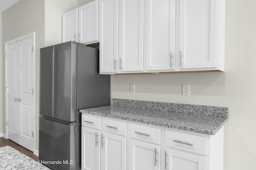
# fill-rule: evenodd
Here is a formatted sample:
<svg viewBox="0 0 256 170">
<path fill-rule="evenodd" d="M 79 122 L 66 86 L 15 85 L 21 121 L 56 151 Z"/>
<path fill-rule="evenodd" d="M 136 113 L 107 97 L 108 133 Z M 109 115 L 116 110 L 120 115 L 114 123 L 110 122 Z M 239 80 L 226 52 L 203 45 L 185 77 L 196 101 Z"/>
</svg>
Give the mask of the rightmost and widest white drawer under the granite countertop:
<svg viewBox="0 0 256 170">
<path fill-rule="evenodd" d="M 165 144 L 169 147 L 206 154 L 206 137 L 165 131 Z"/>
</svg>

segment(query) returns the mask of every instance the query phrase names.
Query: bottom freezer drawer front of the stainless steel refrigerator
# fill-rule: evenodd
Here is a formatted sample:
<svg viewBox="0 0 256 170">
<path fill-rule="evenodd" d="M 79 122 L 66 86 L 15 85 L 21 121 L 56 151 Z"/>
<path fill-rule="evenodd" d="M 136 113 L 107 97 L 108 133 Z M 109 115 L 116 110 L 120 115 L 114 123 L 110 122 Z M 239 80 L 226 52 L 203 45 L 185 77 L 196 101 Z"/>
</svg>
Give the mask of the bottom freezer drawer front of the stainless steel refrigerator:
<svg viewBox="0 0 256 170">
<path fill-rule="evenodd" d="M 53 170 L 75 170 L 76 122 L 64 124 L 53 120 L 39 118 L 39 160 Z"/>
</svg>

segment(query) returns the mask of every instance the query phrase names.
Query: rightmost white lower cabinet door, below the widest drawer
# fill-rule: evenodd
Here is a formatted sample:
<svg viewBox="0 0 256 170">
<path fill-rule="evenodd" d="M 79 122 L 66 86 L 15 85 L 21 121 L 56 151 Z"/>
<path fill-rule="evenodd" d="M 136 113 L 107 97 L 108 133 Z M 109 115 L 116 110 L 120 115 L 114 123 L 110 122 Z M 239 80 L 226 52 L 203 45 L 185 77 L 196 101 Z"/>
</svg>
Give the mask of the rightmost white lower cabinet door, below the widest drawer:
<svg viewBox="0 0 256 170">
<path fill-rule="evenodd" d="M 206 170 L 206 158 L 165 148 L 165 170 Z"/>
</svg>

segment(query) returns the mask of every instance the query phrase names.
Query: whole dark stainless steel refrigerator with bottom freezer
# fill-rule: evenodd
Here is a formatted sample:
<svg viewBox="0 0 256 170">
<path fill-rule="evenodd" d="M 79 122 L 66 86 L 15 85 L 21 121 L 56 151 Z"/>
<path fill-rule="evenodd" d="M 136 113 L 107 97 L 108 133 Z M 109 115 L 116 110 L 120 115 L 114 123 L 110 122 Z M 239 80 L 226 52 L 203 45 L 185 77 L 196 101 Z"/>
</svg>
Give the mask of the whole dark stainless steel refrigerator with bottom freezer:
<svg viewBox="0 0 256 170">
<path fill-rule="evenodd" d="M 81 169 L 79 110 L 106 105 L 110 76 L 99 74 L 98 49 L 73 41 L 40 49 L 40 162 Z"/>
</svg>

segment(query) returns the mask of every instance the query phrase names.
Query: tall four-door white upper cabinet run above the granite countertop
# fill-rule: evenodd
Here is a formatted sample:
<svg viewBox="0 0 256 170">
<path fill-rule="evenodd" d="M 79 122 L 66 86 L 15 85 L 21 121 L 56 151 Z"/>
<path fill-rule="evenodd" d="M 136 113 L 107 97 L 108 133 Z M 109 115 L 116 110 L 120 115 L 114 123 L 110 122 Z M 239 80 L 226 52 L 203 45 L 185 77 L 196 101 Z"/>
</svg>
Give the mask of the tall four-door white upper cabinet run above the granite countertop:
<svg viewBox="0 0 256 170">
<path fill-rule="evenodd" d="M 100 0 L 100 74 L 224 71 L 225 0 Z"/>
</svg>

